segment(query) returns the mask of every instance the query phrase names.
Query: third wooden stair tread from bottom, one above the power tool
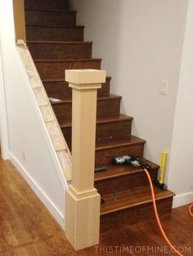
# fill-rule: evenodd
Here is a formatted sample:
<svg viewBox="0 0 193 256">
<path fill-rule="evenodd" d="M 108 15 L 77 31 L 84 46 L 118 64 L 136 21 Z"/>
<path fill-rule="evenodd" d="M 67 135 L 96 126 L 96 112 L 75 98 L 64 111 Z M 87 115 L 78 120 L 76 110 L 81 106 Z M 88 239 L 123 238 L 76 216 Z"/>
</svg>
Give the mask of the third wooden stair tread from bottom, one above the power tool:
<svg viewBox="0 0 193 256">
<path fill-rule="evenodd" d="M 110 149 L 114 147 L 120 147 L 120 146 L 131 146 L 131 145 L 137 145 L 137 144 L 145 144 L 146 141 L 131 135 L 131 137 L 128 140 L 124 141 L 108 141 L 108 143 L 104 142 L 101 143 L 100 146 L 96 146 L 96 150 L 105 150 Z"/>
</svg>

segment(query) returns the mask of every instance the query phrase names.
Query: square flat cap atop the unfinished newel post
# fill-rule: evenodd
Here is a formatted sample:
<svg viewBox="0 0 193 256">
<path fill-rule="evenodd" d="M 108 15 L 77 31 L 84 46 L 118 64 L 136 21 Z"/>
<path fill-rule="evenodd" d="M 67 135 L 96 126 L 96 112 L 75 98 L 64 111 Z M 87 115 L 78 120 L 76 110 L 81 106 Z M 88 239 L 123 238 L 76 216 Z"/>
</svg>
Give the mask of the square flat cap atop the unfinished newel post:
<svg viewBox="0 0 193 256">
<path fill-rule="evenodd" d="M 70 87 L 85 88 L 88 85 L 89 88 L 101 88 L 105 75 L 105 70 L 65 70 L 65 81 L 70 83 Z"/>
</svg>

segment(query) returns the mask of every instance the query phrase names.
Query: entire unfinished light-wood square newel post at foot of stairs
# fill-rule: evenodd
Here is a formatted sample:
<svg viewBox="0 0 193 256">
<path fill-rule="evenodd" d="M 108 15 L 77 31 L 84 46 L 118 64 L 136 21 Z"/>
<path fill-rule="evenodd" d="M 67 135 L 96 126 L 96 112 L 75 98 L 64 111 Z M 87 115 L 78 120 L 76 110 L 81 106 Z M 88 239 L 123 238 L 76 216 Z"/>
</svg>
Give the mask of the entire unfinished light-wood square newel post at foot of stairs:
<svg viewBox="0 0 193 256">
<path fill-rule="evenodd" d="M 74 249 L 99 242 L 100 195 L 94 188 L 96 96 L 102 70 L 66 70 L 73 90 L 72 182 L 65 193 L 65 235 Z"/>
</svg>

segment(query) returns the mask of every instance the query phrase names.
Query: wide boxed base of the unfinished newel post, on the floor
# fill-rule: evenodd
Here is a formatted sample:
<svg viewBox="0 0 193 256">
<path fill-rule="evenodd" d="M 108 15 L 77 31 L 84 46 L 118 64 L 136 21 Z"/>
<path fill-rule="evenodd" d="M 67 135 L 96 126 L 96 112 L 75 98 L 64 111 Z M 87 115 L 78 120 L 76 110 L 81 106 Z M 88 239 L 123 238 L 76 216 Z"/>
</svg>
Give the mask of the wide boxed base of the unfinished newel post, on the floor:
<svg viewBox="0 0 193 256">
<path fill-rule="evenodd" d="M 89 192 L 82 197 L 73 187 L 65 191 L 65 236 L 75 250 L 99 243 L 101 195 Z"/>
</svg>

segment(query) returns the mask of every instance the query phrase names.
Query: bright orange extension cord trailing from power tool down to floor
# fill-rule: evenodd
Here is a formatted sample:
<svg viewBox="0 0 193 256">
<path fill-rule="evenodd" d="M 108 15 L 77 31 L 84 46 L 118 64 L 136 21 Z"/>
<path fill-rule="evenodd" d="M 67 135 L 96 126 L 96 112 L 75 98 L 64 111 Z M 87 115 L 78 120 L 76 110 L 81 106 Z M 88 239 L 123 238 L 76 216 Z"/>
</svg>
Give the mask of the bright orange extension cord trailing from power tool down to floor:
<svg viewBox="0 0 193 256">
<path fill-rule="evenodd" d="M 146 172 L 146 176 L 148 177 L 148 180 L 150 182 L 150 191 L 151 191 L 151 195 L 152 195 L 152 199 L 153 199 L 153 204 L 154 204 L 154 210 L 155 210 L 155 218 L 158 222 L 158 226 L 159 226 L 159 229 L 162 233 L 162 235 L 164 236 L 164 240 L 166 240 L 167 244 L 169 245 L 169 247 L 171 247 L 171 249 L 173 249 L 173 252 L 175 252 L 177 255 L 179 256 L 183 256 L 182 254 L 180 254 L 178 252 L 178 250 L 172 245 L 172 243 L 170 242 L 170 240 L 168 240 L 168 236 L 166 236 L 165 232 L 164 232 L 164 229 L 162 227 L 162 224 L 159 220 L 159 215 L 158 215 L 158 210 L 157 210 L 157 206 L 156 206 L 156 203 L 155 203 L 155 192 L 154 192 L 154 186 L 151 182 L 151 178 L 150 178 L 150 174 L 148 173 L 148 171 L 146 170 L 146 168 L 144 168 L 144 171 Z M 191 204 L 190 208 L 189 208 L 189 213 L 191 214 L 191 217 L 193 218 L 193 213 L 192 213 L 192 210 L 193 210 L 193 204 Z"/>
</svg>

